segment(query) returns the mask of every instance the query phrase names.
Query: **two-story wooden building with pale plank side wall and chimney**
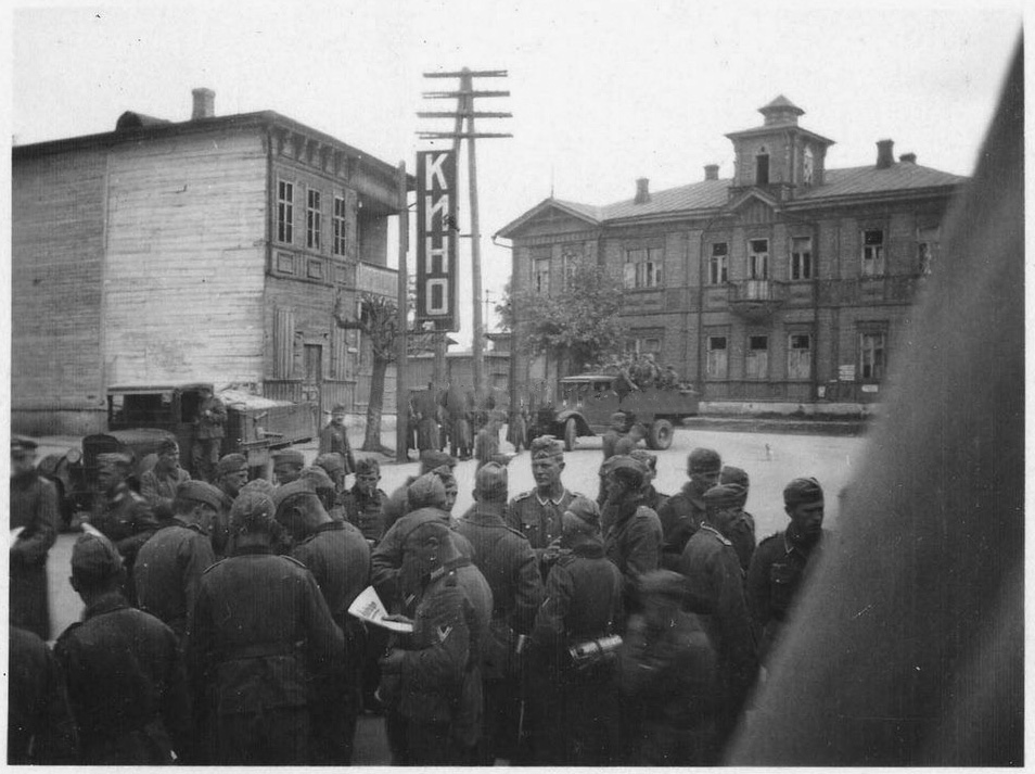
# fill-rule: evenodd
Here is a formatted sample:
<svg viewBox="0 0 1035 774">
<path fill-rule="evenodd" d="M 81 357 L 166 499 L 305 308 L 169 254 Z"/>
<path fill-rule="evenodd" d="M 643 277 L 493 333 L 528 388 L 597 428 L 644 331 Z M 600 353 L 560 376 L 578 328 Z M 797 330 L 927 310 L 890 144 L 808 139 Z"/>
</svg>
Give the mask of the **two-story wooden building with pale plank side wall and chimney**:
<svg viewBox="0 0 1035 774">
<path fill-rule="evenodd" d="M 101 430 L 114 386 L 366 402 L 369 356 L 332 313 L 395 296 L 395 166 L 195 89 L 189 120 L 15 147 L 12 189 L 16 431 Z"/>
</svg>

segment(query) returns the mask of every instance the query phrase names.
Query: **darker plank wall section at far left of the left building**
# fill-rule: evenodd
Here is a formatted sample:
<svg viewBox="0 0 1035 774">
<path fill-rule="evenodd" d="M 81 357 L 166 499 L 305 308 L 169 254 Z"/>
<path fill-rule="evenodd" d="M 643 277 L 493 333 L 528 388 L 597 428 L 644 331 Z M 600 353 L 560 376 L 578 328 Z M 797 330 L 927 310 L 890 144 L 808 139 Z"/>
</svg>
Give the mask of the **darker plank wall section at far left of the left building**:
<svg viewBox="0 0 1035 774">
<path fill-rule="evenodd" d="M 11 411 L 26 433 L 103 428 L 103 150 L 12 163 Z"/>
</svg>

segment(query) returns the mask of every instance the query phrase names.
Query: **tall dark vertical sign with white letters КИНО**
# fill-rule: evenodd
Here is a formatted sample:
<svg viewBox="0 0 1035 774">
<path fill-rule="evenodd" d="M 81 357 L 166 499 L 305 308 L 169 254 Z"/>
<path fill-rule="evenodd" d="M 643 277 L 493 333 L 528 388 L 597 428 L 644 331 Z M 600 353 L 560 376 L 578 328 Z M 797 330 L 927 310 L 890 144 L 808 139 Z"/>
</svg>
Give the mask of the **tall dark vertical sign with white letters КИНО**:
<svg viewBox="0 0 1035 774">
<path fill-rule="evenodd" d="M 418 152 L 417 189 L 417 326 L 456 331 L 456 154 Z"/>
</svg>

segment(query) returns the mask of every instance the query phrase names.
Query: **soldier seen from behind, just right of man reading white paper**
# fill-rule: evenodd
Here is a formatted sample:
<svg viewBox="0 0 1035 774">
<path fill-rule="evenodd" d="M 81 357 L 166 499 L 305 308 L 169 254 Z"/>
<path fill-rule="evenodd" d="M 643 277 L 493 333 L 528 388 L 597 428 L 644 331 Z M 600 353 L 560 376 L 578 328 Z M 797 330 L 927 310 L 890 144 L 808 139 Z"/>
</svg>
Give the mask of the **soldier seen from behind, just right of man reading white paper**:
<svg viewBox="0 0 1035 774">
<path fill-rule="evenodd" d="M 528 635 L 542 599 L 535 551 L 516 530 L 503 523 L 507 468 L 488 462 L 475 474 L 474 508 L 456 531 L 471 542 L 472 561 L 493 589 L 493 618 L 484 643 L 485 739 L 478 762 L 515 760 L 520 674 L 518 637 Z"/>
</svg>

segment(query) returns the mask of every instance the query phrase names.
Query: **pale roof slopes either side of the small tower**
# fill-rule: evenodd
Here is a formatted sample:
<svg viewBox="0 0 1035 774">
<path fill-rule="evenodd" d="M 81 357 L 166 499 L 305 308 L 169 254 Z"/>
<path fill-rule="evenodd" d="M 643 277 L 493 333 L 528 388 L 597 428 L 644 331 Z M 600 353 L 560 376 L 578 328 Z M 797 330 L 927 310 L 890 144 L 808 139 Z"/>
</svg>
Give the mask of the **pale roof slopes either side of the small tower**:
<svg viewBox="0 0 1035 774">
<path fill-rule="evenodd" d="M 823 173 L 823 185 L 798 188 L 794 193 L 794 199 L 787 204 L 793 204 L 794 202 L 808 202 L 809 204 L 836 203 L 839 199 L 941 189 L 957 186 L 966 180 L 967 178 L 960 175 L 953 175 L 909 162 L 897 162 L 884 169 L 878 169 L 872 165 L 827 169 Z M 652 191 L 650 201 L 642 204 L 634 203 L 632 199 L 625 199 L 613 204 L 595 206 L 548 198 L 501 228 L 499 234 L 506 237 L 509 232 L 514 231 L 550 208 L 567 212 L 589 221 L 591 225 L 644 216 L 703 215 L 719 211 L 730 203 L 729 188 L 732 182 L 729 178 L 701 180 L 689 186 Z"/>
</svg>

